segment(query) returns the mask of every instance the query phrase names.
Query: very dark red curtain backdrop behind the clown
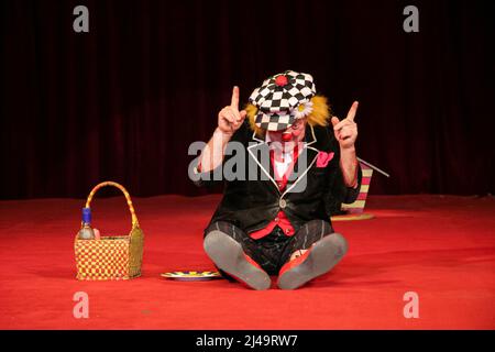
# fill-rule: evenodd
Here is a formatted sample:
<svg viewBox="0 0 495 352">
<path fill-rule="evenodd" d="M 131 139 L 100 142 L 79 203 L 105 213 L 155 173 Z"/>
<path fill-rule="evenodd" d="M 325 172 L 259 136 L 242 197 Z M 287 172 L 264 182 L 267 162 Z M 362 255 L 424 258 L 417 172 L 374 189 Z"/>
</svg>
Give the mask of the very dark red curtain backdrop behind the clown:
<svg viewBox="0 0 495 352">
<path fill-rule="evenodd" d="M 89 33 L 73 9 L 89 9 Z M 419 9 L 419 33 L 403 10 Z M 494 1 L 3 0 L 0 197 L 199 195 L 194 141 L 241 87 L 314 75 L 359 156 L 387 170 L 371 193 L 494 191 Z"/>
</svg>

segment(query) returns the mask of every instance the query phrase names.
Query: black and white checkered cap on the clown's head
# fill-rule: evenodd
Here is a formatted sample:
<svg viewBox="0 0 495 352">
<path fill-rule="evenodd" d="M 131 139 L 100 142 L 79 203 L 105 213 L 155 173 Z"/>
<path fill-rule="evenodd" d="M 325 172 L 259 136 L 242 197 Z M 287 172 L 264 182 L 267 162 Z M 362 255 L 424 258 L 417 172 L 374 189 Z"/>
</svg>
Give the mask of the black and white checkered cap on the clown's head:
<svg viewBox="0 0 495 352">
<path fill-rule="evenodd" d="M 285 76 L 287 84 L 276 84 L 278 76 Z M 258 108 L 255 123 L 268 131 L 285 130 L 294 123 L 295 109 L 309 101 L 316 94 L 312 76 L 287 70 L 265 79 L 253 90 L 250 102 Z"/>
</svg>

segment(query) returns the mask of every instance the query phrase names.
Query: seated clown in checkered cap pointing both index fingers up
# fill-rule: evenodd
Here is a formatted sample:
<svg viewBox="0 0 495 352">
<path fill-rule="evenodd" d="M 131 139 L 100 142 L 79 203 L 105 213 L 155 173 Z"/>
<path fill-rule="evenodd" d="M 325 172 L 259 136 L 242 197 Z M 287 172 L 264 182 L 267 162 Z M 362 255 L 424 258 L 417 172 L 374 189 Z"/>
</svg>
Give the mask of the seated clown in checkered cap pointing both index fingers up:
<svg viewBox="0 0 495 352">
<path fill-rule="evenodd" d="M 239 110 L 239 88 L 218 114 L 199 156 L 198 185 L 213 183 L 229 143 L 246 150 L 252 177 L 224 180 L 223 198 L 205 230 L 205 251 L 220 272 L 253 289 L 298 288 L 328 273 L 346 253 L 333 231 L 332 206 L 353 202 L 361 185 L 354 102 L 331 117 L 310 75 L 287 70 L 254 89 Z M 267 162 L 266 162 L 267 161 Z"/>
</svg>

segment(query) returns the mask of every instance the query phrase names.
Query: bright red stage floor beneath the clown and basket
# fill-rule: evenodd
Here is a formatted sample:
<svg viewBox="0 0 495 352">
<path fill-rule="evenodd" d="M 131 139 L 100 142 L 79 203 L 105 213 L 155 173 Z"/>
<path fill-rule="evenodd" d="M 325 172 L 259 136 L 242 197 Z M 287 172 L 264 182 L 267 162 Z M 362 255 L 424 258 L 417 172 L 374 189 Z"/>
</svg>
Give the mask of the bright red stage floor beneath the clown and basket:
<svg viewBox="0 0 495 352">
<path fill-rule="evenodd" d="M 82 200 L 0 201 L 0 328 L 495 329 L 494 198 L 372 196 L 375 219 L 334 223 L 350 244 L 344 260 L 294 292 L 162 279 L 213 268 L 201 240 L 218 199 L 134 199 L 144 275 L 106 283 L 75 279 Z M 128 231 L 123 198 L 97 199 L 94 222 Z M 73 317 L 76 292 L 89 295 L 89 319 Z M 419 295 L 418 319 L 403 315 L 406 292 Z"/>
</svg>

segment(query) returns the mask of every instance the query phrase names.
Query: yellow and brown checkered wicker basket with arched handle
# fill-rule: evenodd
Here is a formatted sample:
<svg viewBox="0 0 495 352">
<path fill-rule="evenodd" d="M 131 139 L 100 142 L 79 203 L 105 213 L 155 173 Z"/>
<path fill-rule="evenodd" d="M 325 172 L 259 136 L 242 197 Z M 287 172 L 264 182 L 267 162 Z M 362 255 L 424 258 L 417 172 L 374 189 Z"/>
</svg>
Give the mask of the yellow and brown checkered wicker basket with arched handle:
<svg viewBox="0 0 495 352">
<path fill-rule="evenodd" d="M 96 191 L 105 186 L 117 187 L 124 194 L 131 211 L 132 229 L 129 235 L 101 237 L 99 240 L 80 240 L 76 235 L 74 250 L 77 278 L 80 280 L 130 279 L 141 275 L 144 233 L 125 188 L 112 182 L 101 183 L 89 194 L 86 208 L 89 208 Z"/>
</svg>

